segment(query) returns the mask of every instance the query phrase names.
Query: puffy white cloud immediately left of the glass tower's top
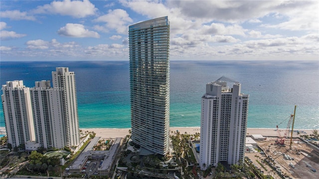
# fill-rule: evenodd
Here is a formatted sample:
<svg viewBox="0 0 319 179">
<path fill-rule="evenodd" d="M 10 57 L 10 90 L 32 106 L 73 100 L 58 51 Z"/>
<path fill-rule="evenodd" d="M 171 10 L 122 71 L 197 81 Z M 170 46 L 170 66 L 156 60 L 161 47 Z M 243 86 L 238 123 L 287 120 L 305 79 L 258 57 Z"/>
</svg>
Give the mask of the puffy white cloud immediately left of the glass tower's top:
<svg viewBox="0 0 319 179">
<path fill-rule="evenodd" d="M 115 29 L 118 33 L 127 34 L 128 33 L 128 23 L 133 22 L 129 14 L 123 9 L 109 10 L 108 14 L 99 16 L 94 21 L 96 22 L 106 22 L 104 28 L 101 26 L 96 26 L 96 29 L 109 31 L 108 29 Z"/>
</svg>

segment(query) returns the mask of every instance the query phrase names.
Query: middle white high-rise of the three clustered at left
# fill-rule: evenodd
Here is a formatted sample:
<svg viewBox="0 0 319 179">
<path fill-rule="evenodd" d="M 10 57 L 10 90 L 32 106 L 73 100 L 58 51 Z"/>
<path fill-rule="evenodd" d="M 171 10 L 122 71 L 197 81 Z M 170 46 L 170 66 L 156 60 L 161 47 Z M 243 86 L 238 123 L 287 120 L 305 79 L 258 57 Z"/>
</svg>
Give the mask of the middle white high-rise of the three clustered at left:
<svg viewBox="0 0 319 179">
<path fill-rule="evenodd" d="M 50 81 L 45 80 L 36 81 L 34 88 L 30 90 L 37 142 L 45 149 L 54 147 L 50 107 L 51 90 L 53 88 Z"/>
</svg>

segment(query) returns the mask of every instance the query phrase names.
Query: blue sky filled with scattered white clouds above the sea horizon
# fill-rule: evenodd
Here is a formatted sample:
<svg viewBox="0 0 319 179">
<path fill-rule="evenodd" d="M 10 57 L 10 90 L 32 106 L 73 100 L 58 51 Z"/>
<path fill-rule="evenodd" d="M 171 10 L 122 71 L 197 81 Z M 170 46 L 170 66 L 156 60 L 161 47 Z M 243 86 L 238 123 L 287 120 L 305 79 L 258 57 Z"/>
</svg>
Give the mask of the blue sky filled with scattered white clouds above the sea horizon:
<svg viewBox="0 0 319 179">
<path fill-rule="evenodd" d="M 170 60 L 319 60 L 318 0 L 0 0 L 0 60 L 129 60 L 162 16 Z"/>
</svg>

